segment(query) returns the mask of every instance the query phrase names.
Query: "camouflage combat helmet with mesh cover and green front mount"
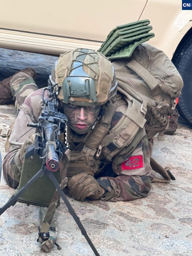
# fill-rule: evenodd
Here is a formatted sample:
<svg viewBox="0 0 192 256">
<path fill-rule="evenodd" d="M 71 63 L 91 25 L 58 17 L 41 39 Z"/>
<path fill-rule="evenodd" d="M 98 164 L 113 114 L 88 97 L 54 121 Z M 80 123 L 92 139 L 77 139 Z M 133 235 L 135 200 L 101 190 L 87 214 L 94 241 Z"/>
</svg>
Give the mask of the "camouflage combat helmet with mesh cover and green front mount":
<svg viewBox="0 0 192 256">
<path fill-rule="evenodd" d="M 60 55 L 49 81 L 64 103 L 93 106 L 115 102 L 117 82 L 112 63 L 94 50 L 79 48 Z"/>
</svg>

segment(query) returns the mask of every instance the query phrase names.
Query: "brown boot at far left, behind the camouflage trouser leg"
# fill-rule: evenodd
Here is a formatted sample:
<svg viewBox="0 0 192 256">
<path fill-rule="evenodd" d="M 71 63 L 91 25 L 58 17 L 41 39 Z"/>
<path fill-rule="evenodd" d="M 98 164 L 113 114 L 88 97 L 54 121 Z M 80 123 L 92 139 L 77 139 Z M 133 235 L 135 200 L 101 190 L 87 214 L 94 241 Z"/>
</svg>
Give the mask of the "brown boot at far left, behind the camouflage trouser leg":
<svg viewBox="0 0 192 256">
<path fill-rule="evenodd" d="M 16 72 L 15 74 L 19 73 L 19 72 L 25 72 L 29 75 L 31 75 L 33 77 L 33 79 L 35 80 L 37 78 L 37 73 L 33 68 L 26 68 L 23 70 L 20 70 L 18 72 Z M 3 81 L 0 82 L 0 105 L 4 105 L 4 104 L 10 104 L 13 101 L 13 95 L 11 93 L 11 80 L 12 80 L 13 76 L 4 79 Z"/>
</svg>

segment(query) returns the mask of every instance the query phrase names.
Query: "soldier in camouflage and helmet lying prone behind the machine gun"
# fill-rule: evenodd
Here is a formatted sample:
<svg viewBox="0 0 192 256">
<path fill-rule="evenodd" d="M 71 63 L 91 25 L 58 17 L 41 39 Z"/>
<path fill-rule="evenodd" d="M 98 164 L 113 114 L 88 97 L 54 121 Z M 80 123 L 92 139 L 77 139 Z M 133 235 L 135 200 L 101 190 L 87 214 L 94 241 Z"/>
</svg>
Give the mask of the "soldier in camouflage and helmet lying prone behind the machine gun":
<svg viewBox="0 0 192 256">
<path fill-rule="evenodd" d="M 3 160 L 3 175 L 13 188 L 18 186 L 21 172 L 30 171 L 22 170 L 22 165 L 35 128 L 29 130 L 26 125 L 38 123 L 43 104 L 43 89 L 38 89 L 35 78 L 36 72 L 26 68 L 6 80 L 11 84 L 17 116 Z M 131 143 L 123 140 L 123 134 L 119 136 L 121 126 L 122 133 L 126 131 L 131 137 L 133 123 L 126 123 L 127 102 L 117 92 L 112 63 L 97 51 L 75 49 L 59 57 L 49 84 L 57 94 L 58 108 L 68 119 L 71 155 L 67 168 L 61 160 L 60 173 L 62 179 L 68 177 L 70 195 L 81 201 L 113 202 L 146 197 L 153 180 L 151 147 L 144 127 Z M 10 100 L 11 95 L 7 97 Z"/>
</svg>

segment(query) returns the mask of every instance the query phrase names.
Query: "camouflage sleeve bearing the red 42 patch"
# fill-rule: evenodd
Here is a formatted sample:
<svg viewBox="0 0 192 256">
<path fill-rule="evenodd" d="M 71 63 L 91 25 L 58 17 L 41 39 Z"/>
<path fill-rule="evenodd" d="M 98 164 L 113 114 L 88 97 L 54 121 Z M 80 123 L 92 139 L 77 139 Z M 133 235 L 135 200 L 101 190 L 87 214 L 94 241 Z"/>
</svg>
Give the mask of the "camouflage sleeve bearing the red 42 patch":
<svg viewBox="0 0 192 256">
<path fill-rule="evenodd" d="M 117 154 L 113 158 L 113 172 L 117 177 L 101 177 L 98 183 L 106 189 L 102 200 L 129 201 L 147 196 L 151 188 L 150 153 L 147 135 L 143 129 L 143 139 L 130 153 Z"/>
</svg>

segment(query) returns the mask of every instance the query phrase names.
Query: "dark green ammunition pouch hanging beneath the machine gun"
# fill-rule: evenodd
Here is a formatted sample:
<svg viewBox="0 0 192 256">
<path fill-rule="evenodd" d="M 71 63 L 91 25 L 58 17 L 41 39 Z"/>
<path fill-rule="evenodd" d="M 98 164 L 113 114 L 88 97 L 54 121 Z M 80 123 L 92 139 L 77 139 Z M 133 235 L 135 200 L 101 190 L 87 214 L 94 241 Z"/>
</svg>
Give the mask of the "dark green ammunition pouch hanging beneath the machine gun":
<svg viewBox="0 0 192 256">
<path fill-rule="evenodd" d="M 40 169 L 42 168 L 42 160 L 39 155 L 32 155 L 24 158 L 21 177 L 16 192 L 21 189 Z M 53 172 L 58 183 L 61 184 L 60 171 Z M 55 193 L 55 185 L 47 177 L 43 175 L 38 178 L 18 199 L 20 203 L 49 207 L 53 194 Z M 60 205 L 58 200 L 57 207 Z"/>
</svg>

